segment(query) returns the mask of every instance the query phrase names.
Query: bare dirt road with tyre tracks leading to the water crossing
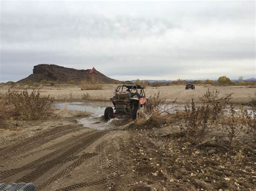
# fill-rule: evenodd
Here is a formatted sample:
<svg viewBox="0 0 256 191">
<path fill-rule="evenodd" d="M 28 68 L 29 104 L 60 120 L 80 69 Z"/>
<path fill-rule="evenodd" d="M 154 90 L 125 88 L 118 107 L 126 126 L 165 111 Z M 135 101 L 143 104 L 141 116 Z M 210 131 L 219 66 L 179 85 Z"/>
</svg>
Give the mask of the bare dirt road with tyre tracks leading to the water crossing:
<svg viewBox="0 0 256 191">
<path fill-rule="evenodd" d="M 37 190 L 111 189 L 118 180 L 118 142 L 126 134 L 82 125 L 23 133 L 0 143 L 0 182 L 33 182 Z"/>
</svg>

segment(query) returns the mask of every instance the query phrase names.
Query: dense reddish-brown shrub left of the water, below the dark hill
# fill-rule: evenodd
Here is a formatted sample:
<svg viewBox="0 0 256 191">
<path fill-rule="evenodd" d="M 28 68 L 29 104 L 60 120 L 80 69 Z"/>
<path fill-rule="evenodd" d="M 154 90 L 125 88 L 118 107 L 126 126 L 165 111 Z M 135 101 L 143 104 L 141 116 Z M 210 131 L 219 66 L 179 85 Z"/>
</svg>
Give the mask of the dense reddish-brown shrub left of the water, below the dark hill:
<svg viewBox="0 0 256 191">
<path fill-rule="evenodd" d="M 5 94 L 6 105 L 13 107 L 12 116 L 21 120 L 37 120 L 49 115 L 53 98 L 41 96 L 40 91 L 11 91 Z"/>
</svg>

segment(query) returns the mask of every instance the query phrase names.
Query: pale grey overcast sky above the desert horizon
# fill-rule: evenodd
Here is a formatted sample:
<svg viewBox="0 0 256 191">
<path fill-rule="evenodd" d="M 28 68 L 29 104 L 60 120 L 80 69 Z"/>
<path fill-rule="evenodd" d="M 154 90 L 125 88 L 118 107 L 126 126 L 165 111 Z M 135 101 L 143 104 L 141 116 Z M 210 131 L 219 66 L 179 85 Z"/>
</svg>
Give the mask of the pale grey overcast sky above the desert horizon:
<svg viewBox="0 0 256 191">
<path fill-rule="evenodd" d="M 254 1 L 1 1 L 0 81 L 39 63 L 118 80 L 255 77 Z"/>
</svg>

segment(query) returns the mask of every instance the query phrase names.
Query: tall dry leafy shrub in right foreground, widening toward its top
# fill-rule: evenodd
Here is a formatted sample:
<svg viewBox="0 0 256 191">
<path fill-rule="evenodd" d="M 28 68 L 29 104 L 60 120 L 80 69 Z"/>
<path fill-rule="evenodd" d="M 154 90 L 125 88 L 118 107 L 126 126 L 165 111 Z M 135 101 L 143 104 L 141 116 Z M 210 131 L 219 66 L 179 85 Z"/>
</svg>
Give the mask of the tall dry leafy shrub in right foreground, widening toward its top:
<svg viewBox="0 0 256 191">
<path fill-rule="evenodd" d="M 196 105 L 192 99 L 185 111 L 176 111 L 180 131 L 185 133 L 188 142 L 192 145 L 203 142 L 206 133 L 211 132 L 213 125 L 221 121 L 231 99 L 232 94 L 220 97 L 218 90 L 208 89 L 203 96 L 199 96 L 200 104 Z"/>
</svg>

